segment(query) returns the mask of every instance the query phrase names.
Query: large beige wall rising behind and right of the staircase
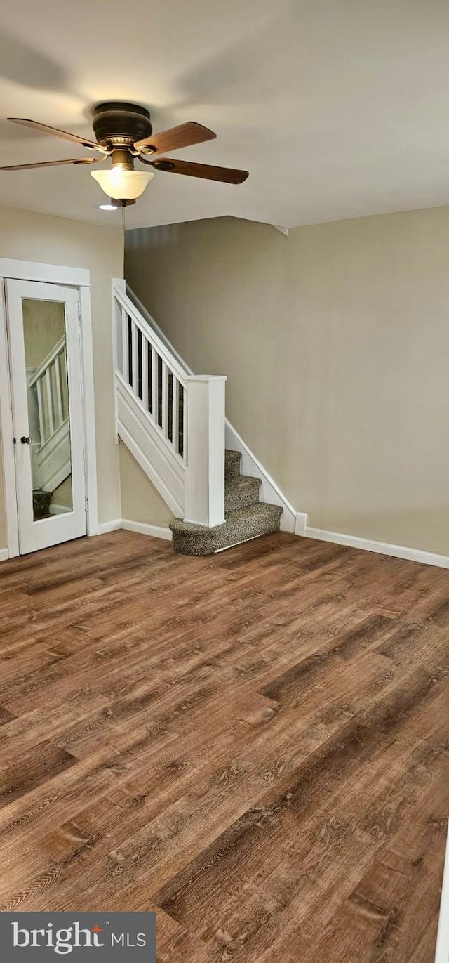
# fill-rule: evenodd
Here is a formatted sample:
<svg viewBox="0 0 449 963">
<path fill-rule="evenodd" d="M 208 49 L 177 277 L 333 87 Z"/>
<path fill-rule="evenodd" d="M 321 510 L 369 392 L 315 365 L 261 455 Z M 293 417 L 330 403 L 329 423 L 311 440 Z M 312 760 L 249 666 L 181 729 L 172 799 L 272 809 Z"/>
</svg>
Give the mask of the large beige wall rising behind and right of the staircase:
<svg viewBox="0 0 449 963">
<path fill-rule="evenodd" d="M 449 208 L 132 231 L 125 275 L 309 524 L 449 555 Z"/>
</svg>

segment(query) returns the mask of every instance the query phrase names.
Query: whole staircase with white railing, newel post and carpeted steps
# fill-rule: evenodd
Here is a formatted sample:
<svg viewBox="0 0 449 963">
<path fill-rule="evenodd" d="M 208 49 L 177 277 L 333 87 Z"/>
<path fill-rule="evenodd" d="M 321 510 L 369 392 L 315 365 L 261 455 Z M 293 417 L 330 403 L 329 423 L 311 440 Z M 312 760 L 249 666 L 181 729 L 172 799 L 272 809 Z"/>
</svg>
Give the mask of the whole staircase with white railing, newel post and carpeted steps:
<svg viewBox="0 0 449 963">
<path fill-rule="evenodd" d="M 260 502 L 262 479 L 225 452 L 226 377 L 188 373 L 123 282 L 112 301 L 117 436 L 176 516 L 175 552 L 212 555 L 279 532 L 282 506 Z"/>
</svg>

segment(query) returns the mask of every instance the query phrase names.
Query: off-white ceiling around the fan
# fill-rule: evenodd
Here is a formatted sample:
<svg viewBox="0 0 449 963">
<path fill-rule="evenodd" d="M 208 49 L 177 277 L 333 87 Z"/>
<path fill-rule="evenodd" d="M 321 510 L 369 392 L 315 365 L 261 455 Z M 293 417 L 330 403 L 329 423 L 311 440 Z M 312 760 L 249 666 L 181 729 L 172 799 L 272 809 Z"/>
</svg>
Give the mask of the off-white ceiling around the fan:
<svg viewBox="0 0 449 963">
<path fill-rule="evenodd" d="M 175 156 L 250 170 L 238 187 L 159 172 L 130 227 L 447 204 L 448 64 L 447 0 L 11 0 L 0 163 L 78 153 L 5 117 L 91 137 L 89 108 L 123 99 L 149 107 L 156 132 L 185 120 L 216 131 Z M 0 172 L 0 204 L 118 226 L 102 199 L 86 168 Z"/>
</svg>

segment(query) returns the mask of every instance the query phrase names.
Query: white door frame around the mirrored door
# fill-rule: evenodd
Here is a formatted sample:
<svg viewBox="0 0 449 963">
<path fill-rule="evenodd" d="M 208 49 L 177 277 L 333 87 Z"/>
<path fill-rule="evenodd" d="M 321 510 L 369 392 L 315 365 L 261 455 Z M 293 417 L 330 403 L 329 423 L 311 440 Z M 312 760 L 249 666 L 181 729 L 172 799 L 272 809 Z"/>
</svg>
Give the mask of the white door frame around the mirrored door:
<svg viewBox="0 0 449 963">
<path fill-rule="evenodd" d="M 98 534 L 97 471 L 95 444 L 95 409 L 93 395 L 92 327 L 90 316 L 90 272 L 85 268 L 65 268 L 61 265 L 38 264 L 34 261 L 15 261 L 0 257 L 0 433 L 3 457 L 3 488 L 5 502 L 8 558 L 19 554 L 18 517 L 15 493 L 12 403 L 9 370 L 8 333 L 4 280 L 11 277 L 22 281 L 46 281 L 78 290 L 81 331 L 82 394 L 86 441 L 87 534 Z M 1 550 L 0 550 L 1 558 Z"/>
</svg>

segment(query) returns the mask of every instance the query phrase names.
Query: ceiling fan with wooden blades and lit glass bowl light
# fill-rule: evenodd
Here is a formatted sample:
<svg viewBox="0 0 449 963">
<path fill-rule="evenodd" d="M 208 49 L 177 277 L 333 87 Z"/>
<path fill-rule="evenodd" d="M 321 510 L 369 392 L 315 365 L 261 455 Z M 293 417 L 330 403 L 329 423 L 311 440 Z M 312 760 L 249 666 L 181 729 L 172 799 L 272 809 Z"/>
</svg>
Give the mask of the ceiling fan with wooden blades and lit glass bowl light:
<svg viewBox="0 0 449 963">
<path fill-rule="evenodd" d="M 241 184 L 248 177 L 247 170 L 218 168 L 210 164 L 195 164 L 160 156 L 167 151 L 179 150 L 194 143 L 212 141 L 216 134 L 208 127 L 190 120 L 153 134 L 150 113 L 138 104 L 110 101 L 98 104 L 93 113 L 92 127 L 96 141 L 88 141 L 57 127 L 28 120 L 24 117 L 8 117 L 12 123 L 19 123 L 42 134 L 51 134 L 64 141 L 81 143 L 89 150 L 96 150 L 101 157 L 75 157 L 61 161 L 41 161 L 37 164 L 12 164 L 0 170 L 26 170 L 31 168 L 51 168 L 62 164 L 102 164 L 111 158 L 108 170 L 92 170 L 91 175 L 102 190 L 112 198 L 114 206 L 126 207 L 135 204 L 136 198 L 143 194 L 154 171 L 135 170 L 135 161 L 154 170 L 164 170 L 173 174 L 187 174 L 189 177 L 202 177 L 207 180 L 221 181 L 224 184 Z M 153 158 L 155 158 L 153 160 Z"/>
</svg>

